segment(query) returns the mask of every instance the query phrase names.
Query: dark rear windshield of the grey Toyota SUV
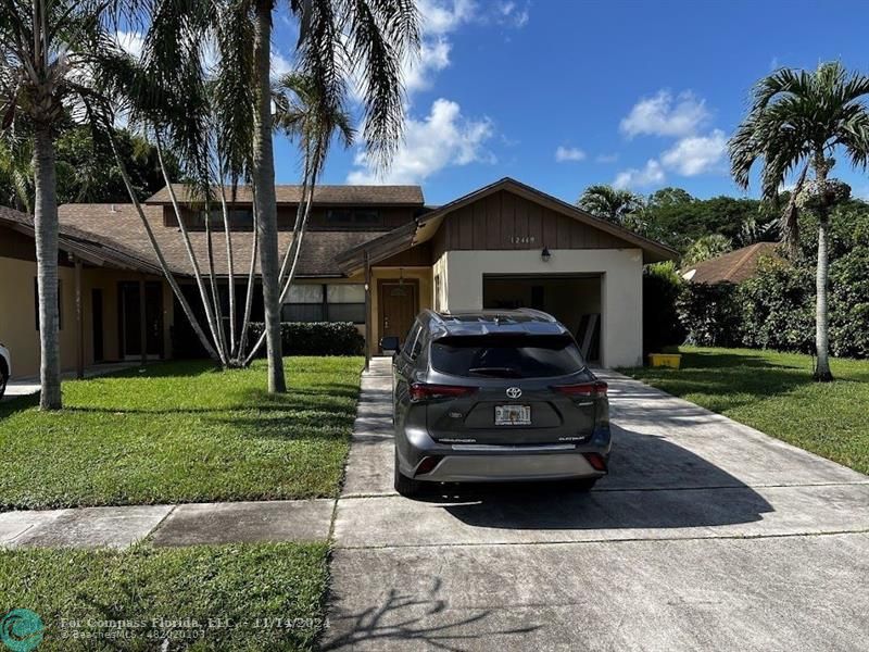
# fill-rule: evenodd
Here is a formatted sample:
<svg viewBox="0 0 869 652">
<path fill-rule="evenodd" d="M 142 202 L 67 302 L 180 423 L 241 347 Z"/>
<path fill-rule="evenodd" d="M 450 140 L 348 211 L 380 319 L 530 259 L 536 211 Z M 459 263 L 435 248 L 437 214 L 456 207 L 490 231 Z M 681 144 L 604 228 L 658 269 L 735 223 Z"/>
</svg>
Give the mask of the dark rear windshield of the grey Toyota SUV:
<svg viewBox="0 0 869 652">
<path fill-rule="evenodd" d="M 454 376 L 538 378 L 574 374 L 585 364 L 566 336 L 486 335 L 434 340 L 431 366 Z"/>
</svg>

